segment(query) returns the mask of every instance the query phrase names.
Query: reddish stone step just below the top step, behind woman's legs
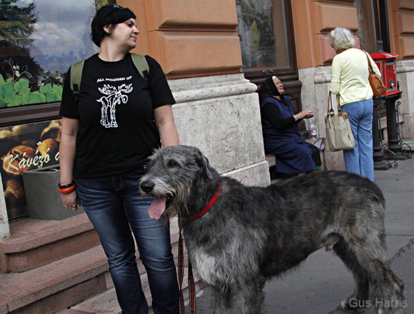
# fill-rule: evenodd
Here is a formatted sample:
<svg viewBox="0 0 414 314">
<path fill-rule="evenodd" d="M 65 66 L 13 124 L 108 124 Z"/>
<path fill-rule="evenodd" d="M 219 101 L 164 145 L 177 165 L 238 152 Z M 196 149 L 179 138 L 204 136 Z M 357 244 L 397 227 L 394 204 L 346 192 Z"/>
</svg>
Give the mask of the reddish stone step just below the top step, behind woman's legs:
<svg viewBox="0 0 414 314">
<path fill-rule="evenodd" d="M 170 229 L 172 250 L 177 256 L 177 220 L 171 222 Z M 139 258 L 137 264 L 143 286 L 148 286 Z M 99 245 L 21 273 L 0 273 L 0 314 L 56 313 L 112 287 L 106 256 Z"/>
</svg>

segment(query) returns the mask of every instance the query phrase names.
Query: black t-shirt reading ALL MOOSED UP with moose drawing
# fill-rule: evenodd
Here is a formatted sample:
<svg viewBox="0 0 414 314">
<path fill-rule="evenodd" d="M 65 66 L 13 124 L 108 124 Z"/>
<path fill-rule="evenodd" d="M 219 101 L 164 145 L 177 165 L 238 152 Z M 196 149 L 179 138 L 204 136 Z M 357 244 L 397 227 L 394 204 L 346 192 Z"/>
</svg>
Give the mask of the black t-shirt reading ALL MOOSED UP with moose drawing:
<svg viewBox="0 0 414 314">
<path fill-rule="evenodd" d="M 175 103 L 161 66 L 146 56 L 149 83 L 130 54 L 107 62 L 95 54 L 83 65 L 79 116 L 70 90 L 70 70 L 63 83 L 59 114 L 79 119 L 74 176 L 124 174 L 144 165 L 161 142 L 153 110 Z"/>
</svg>

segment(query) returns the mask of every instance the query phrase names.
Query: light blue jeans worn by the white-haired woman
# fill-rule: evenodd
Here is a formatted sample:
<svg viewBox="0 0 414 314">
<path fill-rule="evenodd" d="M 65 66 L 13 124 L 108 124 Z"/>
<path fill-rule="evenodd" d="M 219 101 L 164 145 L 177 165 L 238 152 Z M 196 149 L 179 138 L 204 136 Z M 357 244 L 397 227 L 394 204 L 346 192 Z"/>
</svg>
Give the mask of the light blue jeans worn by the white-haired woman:
<svg viewBox="0 0 414 314">
<path fill-rule="evenodd" d="M 374 180 L 373 100 L 358 101 L 343 107 L 348 112 L 355 147 L 344 151 L 346 170 Z"/>
</svg>

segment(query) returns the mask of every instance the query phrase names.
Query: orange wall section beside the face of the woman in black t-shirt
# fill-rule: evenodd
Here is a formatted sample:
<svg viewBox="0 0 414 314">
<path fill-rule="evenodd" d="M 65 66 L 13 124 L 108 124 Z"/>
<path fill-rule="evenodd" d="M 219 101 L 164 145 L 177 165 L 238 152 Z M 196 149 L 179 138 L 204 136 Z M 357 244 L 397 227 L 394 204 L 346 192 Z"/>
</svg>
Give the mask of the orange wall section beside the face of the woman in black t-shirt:
<svg viewBox="0 0 414 314">
<path fill-rule="evenodd" d="M 137 15 L 134 52 L 149 54 L 168 79 L 242 70 L 234 0 L 118 0 Z"/>
</svg>

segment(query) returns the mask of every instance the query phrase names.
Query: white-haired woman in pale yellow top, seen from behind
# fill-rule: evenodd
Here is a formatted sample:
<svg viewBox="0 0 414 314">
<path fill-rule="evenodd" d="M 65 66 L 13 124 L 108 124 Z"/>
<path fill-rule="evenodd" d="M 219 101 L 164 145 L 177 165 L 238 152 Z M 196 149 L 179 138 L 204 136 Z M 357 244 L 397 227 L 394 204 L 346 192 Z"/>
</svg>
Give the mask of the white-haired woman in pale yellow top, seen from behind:
<svg viewBox="0 0 414 314">
<path fill-rule="evenodd" d="M 348 112 L 356 143 L 354 149 L 344 151 L 346 170 L 373 181 L 373 92 L 368 82 L 368 54 L 353 48 L 355 39 L 346 28 L 335 28 L 329 37 L 337 52 L 332 61 L 330 91 L 339 94 L 339 105 Z M 381 76 L 371 56 L 368 59 Z"/>
</svg>

